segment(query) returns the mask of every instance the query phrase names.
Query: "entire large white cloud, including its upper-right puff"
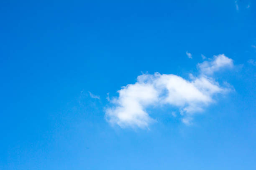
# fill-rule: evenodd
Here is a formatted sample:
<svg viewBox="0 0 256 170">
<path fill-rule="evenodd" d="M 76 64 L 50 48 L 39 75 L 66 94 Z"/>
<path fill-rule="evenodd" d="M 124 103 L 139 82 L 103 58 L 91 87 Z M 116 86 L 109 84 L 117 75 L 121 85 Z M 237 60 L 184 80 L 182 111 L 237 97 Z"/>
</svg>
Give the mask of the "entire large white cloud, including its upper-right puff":
<svg viewBox="0 0 256 170">
<path fill-rule="evenodd" d="M 122 128 L 145 128 L 155 121 L 148 115 L 148 107 L 171 105 L 179 109 L 182 122 L 189 125 L 195 113 L 215 102 L 215 95 L 230 91 L 209 75 L 231 65 L 233 60 L 223 54 L 198 64 L 200 74 L 190 74 L 190 80 L 158 72 L 139 75 L 135 84 L 122 87 L 119 96 L 110 100 L 112 106 L 105 110 L 106 119 Z"/>
</svg>

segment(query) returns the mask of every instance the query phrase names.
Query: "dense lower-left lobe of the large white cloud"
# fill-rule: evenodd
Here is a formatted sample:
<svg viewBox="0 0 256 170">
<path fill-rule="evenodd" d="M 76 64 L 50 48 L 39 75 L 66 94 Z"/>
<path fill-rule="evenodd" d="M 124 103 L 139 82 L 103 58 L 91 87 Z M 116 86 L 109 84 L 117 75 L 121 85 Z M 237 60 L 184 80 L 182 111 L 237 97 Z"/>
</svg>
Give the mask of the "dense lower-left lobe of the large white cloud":
<svg viewBox="0 0 256 170">
<path fill-rule="evenodd" d="M 158 91 L 154 86 L 150 83 L 136 82 L 122 87 L 118 93 L 119 97 L 111 100 L 116 106 L 106 110 L 109 121 L 120 126 L 148 126 L 153 119 L 149 117 L 145 107 L 158 100 Z"/>
</svg>

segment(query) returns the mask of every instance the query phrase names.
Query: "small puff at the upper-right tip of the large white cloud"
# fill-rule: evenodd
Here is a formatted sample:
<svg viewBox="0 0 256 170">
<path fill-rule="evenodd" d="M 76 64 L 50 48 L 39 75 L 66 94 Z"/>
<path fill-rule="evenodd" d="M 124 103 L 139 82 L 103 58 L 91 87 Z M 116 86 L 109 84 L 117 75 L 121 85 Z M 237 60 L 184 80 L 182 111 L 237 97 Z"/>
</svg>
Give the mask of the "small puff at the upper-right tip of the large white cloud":
<svg viewBox="0 0 256 170">
<path fill-rule="evenodd" d="M 204 61 L 197 65 L 202 74 L 212 75 L 214 72 L 223 67 L 233 67 L 233 60 L 226 57 L 224 54 L 215 55 L 214 60 Z"/>
</svg>

